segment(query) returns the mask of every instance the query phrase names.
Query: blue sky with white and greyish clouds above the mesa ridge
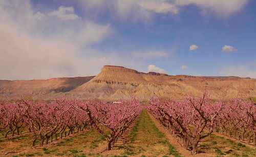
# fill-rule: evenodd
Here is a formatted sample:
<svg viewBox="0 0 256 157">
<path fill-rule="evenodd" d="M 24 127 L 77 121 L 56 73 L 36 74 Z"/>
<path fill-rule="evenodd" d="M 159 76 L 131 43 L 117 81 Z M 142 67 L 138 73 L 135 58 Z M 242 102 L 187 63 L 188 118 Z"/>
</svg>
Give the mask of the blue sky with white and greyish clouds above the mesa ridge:
<svg viewBox="0 0 256 157">
<path fill-rule="evenodd" d="M 256 78 L 253 0 L 0 0 L 0 79 L 92 76 L 103 65 Z"/>
</svg>

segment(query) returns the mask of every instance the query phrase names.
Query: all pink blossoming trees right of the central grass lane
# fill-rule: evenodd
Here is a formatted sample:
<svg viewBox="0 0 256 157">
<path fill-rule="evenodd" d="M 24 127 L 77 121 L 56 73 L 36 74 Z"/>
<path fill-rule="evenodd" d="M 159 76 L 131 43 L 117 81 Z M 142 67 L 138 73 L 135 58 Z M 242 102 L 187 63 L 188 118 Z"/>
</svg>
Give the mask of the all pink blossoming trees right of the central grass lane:
<svg viewBox="0 0 256 157">
<path fill-rule="evenodd" d="M 151 98 L 147 110 L 193 154 L 198 153 L 199 141 L 217 127 L 221 132 L 233 131 L 234 137 L 242 132 L 242 139 L 245 133 L 248 139 L 254 136 L 256 144 L 256 104 L 253 101 L 234 98 L 227 102 L 211 103 L 210 100 L 207 93 L 195 99 L 189 96 L 184 101 Z"/>
</svg>

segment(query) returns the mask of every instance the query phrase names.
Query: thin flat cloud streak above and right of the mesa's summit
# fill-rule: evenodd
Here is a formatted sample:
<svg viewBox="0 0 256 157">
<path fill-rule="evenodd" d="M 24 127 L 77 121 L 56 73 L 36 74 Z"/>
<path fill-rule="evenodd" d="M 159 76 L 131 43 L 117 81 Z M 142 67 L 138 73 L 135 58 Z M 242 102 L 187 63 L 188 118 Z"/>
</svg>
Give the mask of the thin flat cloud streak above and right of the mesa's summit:
<svg viewBox="0 0 256 157">
<path fill-rule="evenodd" d="M 164 51 L 135 51 L 132 54 L 134 57 L 142 59 L 154 59 L 169 56 L 169 54 Z"/>
</svg>

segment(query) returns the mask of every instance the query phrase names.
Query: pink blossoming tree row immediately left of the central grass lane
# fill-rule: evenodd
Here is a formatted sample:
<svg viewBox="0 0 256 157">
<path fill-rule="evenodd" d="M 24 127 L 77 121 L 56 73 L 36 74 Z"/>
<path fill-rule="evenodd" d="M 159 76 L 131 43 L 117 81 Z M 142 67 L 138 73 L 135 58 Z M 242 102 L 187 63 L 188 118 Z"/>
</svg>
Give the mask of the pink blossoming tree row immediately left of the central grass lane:
<svg viewBox="0 0 256 157">
<path fill-rule="evenodd" d="M 81 103 L 78 105 L 78 108 L 86 111 L 94 127 L 106 137 L 106 150 L 111 150 L 111 146 L 114 145 L 118 137 L 122 135 L 141 113 L 143 108 L 135 98 L 132 100 L 121 100 L 119 104 L 89 103 Z M 106 133 L 102 126 L 108 128 L 110 134 Z"/>
</svg>

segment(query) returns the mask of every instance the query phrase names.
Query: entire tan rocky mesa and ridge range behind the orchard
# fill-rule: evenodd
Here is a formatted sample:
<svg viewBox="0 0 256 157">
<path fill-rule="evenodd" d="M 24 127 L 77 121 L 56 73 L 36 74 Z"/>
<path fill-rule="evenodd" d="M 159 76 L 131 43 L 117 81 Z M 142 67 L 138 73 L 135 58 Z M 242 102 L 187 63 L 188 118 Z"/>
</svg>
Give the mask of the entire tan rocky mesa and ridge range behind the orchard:
<svg viewBox="0 0 256 157">
<path fill-rule="evenodd" d="M 41 81 L 41 82 L 40 82 Z M 153 96 L 183 99 L 186 94 L 201 95 L 205 87 L 214 99 L 256 96 L 256 79 L 239 77 L 195 77 L 142 73 L 122 66 L 104 65 L 95 77 L 56 78 L 31 81 L 0 81 L 0 95 L 32 95 L 34 99 L 98 98 L 147 99 Z"/>
</svg>

